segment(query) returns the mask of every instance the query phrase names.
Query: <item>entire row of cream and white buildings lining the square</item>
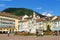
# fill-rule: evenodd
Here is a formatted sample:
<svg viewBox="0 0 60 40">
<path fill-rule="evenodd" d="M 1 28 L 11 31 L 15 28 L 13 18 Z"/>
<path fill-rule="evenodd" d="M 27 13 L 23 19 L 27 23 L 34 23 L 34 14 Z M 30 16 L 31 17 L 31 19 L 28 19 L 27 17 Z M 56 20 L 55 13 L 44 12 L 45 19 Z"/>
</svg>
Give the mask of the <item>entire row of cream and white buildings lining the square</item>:
<svg viewBox="0 0 60 40">
<path fill-rule="evenodd" d="M 15 16 L 9 13 L 1 12 L 0 13 L 0 32 L 13 33 L 15 31 L 25 31 L 30 33 L 36 33 L 36 29 L 39 31 L 47 30 L 47 26 L 50 26 L 52 31 L 60 31 L 60 17 L 43 17 L 36 15 L 33 12 L 33 15 L 28 16 Z"/>
</svg>

